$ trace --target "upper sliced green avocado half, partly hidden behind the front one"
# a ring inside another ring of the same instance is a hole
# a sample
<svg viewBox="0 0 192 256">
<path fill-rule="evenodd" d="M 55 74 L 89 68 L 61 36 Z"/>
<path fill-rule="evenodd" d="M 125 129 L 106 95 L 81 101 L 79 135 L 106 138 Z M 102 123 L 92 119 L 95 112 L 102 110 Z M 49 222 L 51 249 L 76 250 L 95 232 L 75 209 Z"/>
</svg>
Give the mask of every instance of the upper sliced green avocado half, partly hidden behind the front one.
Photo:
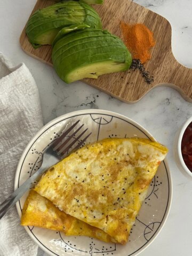
<svg viewBox="0 0 192 256">
<path fill-rule="evenodd" d="M 91 28 L 102 27 L 98 13 L 90 5 L 62 1 L 37 10 L 27 22 L 26 34 L 32 44 L 52 44 L 62 28 L 82 24 Z"/>
</svg>

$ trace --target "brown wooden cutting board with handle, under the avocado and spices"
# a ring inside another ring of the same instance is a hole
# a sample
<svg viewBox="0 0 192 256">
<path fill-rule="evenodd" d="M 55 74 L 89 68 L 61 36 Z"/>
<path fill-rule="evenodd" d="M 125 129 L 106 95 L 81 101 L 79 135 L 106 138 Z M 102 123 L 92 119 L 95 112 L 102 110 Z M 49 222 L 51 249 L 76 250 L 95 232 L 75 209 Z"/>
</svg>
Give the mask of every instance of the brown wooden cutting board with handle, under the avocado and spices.
<svg viewBox="0 0 192 256">
<path fill-rule="evenodd" d="M 173 56 L 170 23 L 131 0 L 105 0 L 104 2 L 103 5 L 93 5 L 101 17 L 103 29 L 108 29 L 122 40 L 123 35 L 119 28 L 121 21 L 143 23 L 154 32 L 156 45 L 151 49 L 151 60 L 145 65 L 150 74 L 154 75 L 154 82 L 148 85 L 138 70 L 103 75 L 98 79 L 84 79 L 83 82 L 127 103 L 137 102 L 151 89 L 160 85 L 173 87 L 181 93 L 183 98 L 192 102 L 192 69 L 182 66 Z M 31 14 L 37 9 L 54 3 L 49 0 L 38 0 Z M 20 44 L 31 57 L 52 66 L 51 46 L 46 45 L 35 50 L 28 41 L 25 28 L 20 37 Z"/>
</svg>

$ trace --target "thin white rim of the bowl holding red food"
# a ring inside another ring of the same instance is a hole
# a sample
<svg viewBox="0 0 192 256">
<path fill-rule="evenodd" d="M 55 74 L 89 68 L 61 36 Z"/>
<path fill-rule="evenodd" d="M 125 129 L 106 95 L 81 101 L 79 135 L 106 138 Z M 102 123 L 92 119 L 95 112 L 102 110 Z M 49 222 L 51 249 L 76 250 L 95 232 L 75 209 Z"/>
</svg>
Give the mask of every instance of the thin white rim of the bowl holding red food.
<svg viewBox="0 0 192 256">
<path fill-rule="evenodd" d="M 185 170 L 190 175 L 190 177 L 192 178 L 192 172 L 188 169 L 185 161 L 183 160 L 183 156 L 182 156 L 182 153 L 181 153 L 181 141 L 182 141 L 182 138 L 183 138 L 183 134 L 186 131 L 188 125 L 191 122 L 192 122 L 192 116 L 189 117 L 187 119 L 187 121 L 182 125 L 181 130 L 179 132 L 179 136 L 178 136 L 177 150 L 178 150 L 178 155 L 179 155 L 180 163 L 181 163 L 181 166 L 182 166 L 183 170 Z"/>
</svg>

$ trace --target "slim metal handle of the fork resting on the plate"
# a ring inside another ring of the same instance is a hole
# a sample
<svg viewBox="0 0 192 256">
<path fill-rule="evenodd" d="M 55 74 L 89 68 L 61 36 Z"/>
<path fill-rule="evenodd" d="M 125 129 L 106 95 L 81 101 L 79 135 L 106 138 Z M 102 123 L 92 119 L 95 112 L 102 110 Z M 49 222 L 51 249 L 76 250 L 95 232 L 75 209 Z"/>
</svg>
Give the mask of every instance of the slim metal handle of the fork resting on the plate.
<svg viewBox="0 0 192 256">
<path fill-rule="evenodd" d="M 5 199 L 0 205 L 0 220 L 9 211 L 9 209 L 17 203 L 17 201 L 26 193 L 29 188 L 34 187 L 34 181 L 42 174 L 46 169 L 40 168 L 38 172 L 34 173 L 29 179 L 27 179 L 22 185 L 16 189 L 9 197 Z"/>
</svg>

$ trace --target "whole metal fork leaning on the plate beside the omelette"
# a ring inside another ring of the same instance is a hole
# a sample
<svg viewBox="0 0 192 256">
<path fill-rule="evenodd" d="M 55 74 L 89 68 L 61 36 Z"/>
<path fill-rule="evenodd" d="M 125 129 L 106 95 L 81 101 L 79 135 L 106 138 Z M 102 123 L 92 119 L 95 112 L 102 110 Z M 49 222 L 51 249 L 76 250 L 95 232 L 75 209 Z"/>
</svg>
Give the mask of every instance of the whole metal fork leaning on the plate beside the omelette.
<svg viewBox="0 0 192 256">
<path fill-rule="evenodd" d="M 5 199 L 5 201 L 0 205 L 0 219 L 6 214 L 7 211 L 9 211 L 9 209 L 13 205 L 15 205 L 15 203 L 22 197 L 23 194 L 26 193 L 26 191 L 29 188 L 33 188 L 35 186 L 36 181 L 47 170 L 47 168 L 58 163 L 61 159 L 63 159 L 63 155 L 68 153 L 69 149 L 72 146 L 74 146 L 80 138 L 82 138 L 83 134 L 88 129 L 85 129 L 76 138 L 74 138 L 74 136 L 75 134 L 77 134 L 78 131 L 82 129 L 84 124 L 78 127 L 77 130 L 75 130 L 71 135 L 67 137 L 69 132 L 72 131 L 78 123 L 79 120 L 75 124 L 70 126 L 69 129 L 63 132 L 63 134 L 57 140 L 55 140 L 52 144 L 47 146 L 43 154 L 43 163 L 41 168 L 38 171 L 36 171 L 29 179 L 27 179 L 18 189 L 16 189 L 13 192 L 13 194 L 11 194 L 7 199 Z M 79 143 L 75 146 L 73 150 L 76 150 L 77 148 L 81 147 L 90 135 L 91 133 L 86 135 L 84 139 L 81 139 L 81 141 L 79 141 Z M 71 141 L 72 138 L 74 139 L 73 141 Z"/>
</svg>

